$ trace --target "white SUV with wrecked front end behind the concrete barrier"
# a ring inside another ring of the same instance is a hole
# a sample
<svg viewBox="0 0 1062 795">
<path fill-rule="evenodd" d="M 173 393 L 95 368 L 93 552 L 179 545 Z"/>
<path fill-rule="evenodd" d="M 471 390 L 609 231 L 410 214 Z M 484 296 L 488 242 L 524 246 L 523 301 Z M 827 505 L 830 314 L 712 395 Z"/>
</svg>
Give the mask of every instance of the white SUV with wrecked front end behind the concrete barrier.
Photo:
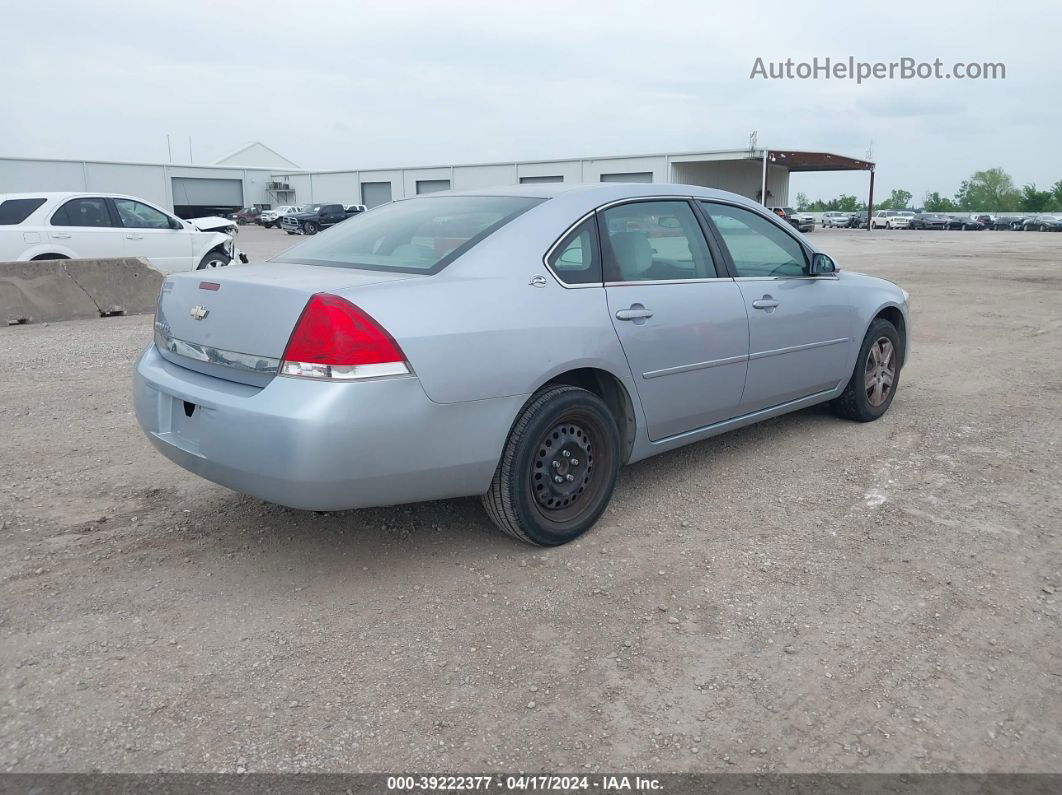
<svg viewBox="0 0 1062 795">
<path fill-rule="evenodd" d="M 0 194 L 0 260 L 143 257 L 164 274 L 247 258 L 223 218 L 182 221 L 114 193 Z"/>
</svg>

